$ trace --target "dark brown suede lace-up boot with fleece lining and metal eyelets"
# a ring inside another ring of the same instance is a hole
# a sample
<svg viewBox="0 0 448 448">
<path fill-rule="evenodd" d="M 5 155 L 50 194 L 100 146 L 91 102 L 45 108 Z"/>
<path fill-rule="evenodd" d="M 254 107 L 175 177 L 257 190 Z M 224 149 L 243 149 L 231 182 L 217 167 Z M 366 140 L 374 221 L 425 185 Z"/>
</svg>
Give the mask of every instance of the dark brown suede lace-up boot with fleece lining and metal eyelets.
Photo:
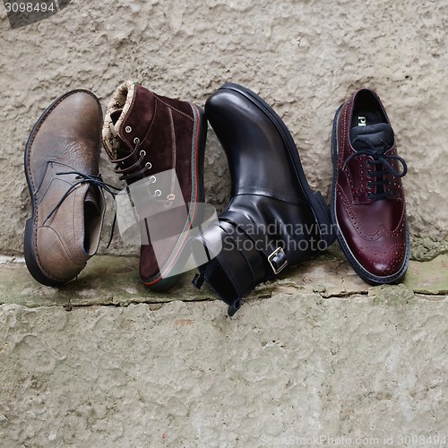
<svg viewBox="0 0 448 448">
<path fill-rule="evenodd" d="M 138 223 L 140 276 L 151 289 L 168 289 L 177 278 L 173 272 L 185 264 L 186 233 L 199 219 L 195 204 L 204 200 L 206 135 L 201 108 L 134 82 L 122 83 L 108 104 L 102 137 L 116 173 L 127 185 L 143 182 L 148 209 L 150 202 L 167 207 L 159 213 L 149 211 Z M 172 185 L 159 186 L 161 173 L 172 173 Z M 180 187 L 177 193 L 175 183 Z M 183 207 L 169 208 L 179 200 Z"/>
</svg>

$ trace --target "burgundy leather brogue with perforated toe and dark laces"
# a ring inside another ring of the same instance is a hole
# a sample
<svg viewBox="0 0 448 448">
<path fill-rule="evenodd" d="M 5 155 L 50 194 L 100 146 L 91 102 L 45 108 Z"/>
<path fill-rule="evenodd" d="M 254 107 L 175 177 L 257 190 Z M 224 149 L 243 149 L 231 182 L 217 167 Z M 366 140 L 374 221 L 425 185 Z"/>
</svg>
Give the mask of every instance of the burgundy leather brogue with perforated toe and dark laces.
<svg viewBox="0 0 448 448">
<path fill-rule="evenodd" d="M 356 91 L 333 124 L 332 220 L 340 246 L 368 283 L 393 283 L 409 264 L 409 228 L 392 126 L 373 90 Z"/>
</svg>

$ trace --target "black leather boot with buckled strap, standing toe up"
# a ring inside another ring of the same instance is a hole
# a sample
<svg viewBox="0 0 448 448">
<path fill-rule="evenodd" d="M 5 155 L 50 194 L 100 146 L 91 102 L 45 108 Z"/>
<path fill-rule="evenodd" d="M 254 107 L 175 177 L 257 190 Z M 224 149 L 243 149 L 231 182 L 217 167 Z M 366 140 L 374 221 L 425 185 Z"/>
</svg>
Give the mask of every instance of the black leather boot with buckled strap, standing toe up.
<svg viewBox="0 0 448 448">
<path fill-rule="evenodd" d="M 329 210 L 314 193 L 288 128 L 252 90 L 226 83 L 205 114 L 228 158 L 231 200 L 219 223 L 192 241 L 193 254 L 210 261 L 193 280 L 206 280 L 233 315 L 242 297 L 286 266 L 334 241 Z"/>
</svg>

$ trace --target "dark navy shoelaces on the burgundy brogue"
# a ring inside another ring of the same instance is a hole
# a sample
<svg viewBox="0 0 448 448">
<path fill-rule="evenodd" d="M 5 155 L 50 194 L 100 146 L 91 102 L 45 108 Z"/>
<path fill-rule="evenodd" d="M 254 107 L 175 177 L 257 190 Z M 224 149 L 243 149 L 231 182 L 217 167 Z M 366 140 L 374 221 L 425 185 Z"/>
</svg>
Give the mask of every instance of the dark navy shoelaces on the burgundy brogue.
<svg viewBox="0 0 448 448">
<path fill-rule="evenodd" d="M 380 201 L 382 199 L 387 198 L 392 194 L 391 188 L 388 188 L 388 185 L 391 184 L 391 179 L 384 179 L 384 175 L 389 173 L 393 177 L 405 176 L 406 173 L 408 172 L 408 166 L 406 165 L 406 161 L 400 156 L 393 154 L 385 154 L 385 152 L 389 150 L 389 146 L 383 140 L 381 141 L 383 143 L 382 149 L 376 148 L 375 145 L 372 142 L 370 142 L 370 140 L 367 137 L 362 136 L 357 137 L 353 140 L 352 143 L 355 143 L 357 141 L 366 142 L 368 148 L 361 149 L 350 154 L 349 157 L 345 160 L 342 169 L 345 169 L 349 164 L 349 161 L 355 157 L 358 156 L 371 157 L 372 159 L 367 159 L 366 163 L 368 167 L 374 165 L 375 171 L 369 169 L 367 171 L 367 177 L 375 178 L 375 180 L 369 180 L 367 182 L 367 187 L 369 189 L 376 187 L 376 193 L 368 192 L 367 197 L 369 199 L 374 199 L 375 201 Z M 392 166 L 393 160 L 398 160 L 401 163 L 401 167 L 403 168 L 401 172 L 393 168 Z"/>
</svg>

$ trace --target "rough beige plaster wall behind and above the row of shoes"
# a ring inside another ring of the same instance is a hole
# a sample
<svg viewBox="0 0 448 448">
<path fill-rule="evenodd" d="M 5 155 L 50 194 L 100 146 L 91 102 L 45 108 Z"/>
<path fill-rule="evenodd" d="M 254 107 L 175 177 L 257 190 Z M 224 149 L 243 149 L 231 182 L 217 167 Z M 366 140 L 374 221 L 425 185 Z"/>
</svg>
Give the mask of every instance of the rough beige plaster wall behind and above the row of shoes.
<svg viewBox="0 0 448 448">
<path fill-rule="evenodd" d="M 327 195 L 333 114 L 358 87 L 377 90 L 409 165 L 413 256 L 441 252 L 447 17 L 447 0 L 73 0 L 44 21 L 10 30 L 0 6 L 0 253 L 22 251 L 30 216 L 23 150 L 41 112 L 79 87 L 105 108 L 126 79 L 199 105 L 223 82 L 259 92 L 289 126 L 310 183 Z M 228 171 L 212 133 L 206 163 L 208 199 L 222 208 Z M 117 182 L 105 154 L 101 171 Z M 134 252 L 116 238 L 109 253 Z"/>
</svg>

